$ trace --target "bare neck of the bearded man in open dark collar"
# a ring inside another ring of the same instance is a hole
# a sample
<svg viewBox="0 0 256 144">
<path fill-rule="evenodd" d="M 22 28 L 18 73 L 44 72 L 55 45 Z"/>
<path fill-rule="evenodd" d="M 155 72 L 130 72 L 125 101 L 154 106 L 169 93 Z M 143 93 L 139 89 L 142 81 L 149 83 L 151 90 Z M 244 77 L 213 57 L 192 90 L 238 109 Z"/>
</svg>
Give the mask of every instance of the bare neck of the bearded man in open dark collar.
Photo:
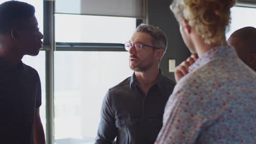
<svg viewBox="0 0 256 144">
<path fill-rule="evenodd" d="M 158 80 L 158 74 L 159 68 L 149 69 L 143 72 L 135 71 L 136 80 L 145 94 L 148 93 L 148 89 Z"/>
</svg>

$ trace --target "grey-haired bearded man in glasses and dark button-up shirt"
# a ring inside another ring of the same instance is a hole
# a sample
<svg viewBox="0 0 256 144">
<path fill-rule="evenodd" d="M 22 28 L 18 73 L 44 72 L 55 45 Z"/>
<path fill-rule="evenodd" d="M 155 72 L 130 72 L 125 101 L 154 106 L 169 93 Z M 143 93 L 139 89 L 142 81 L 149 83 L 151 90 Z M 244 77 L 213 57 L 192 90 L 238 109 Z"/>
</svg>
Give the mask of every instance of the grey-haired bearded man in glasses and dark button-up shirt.
<svg viewBox="0 0 256 144">
<path fill-rule="evenodd" d="M 103 100 L 96 143 L 154 143 L 175 82 L 164 76 L 159 62 L 167 39 L 161 29 L 141 24 L 125 49 L 135 72 L 110 88 Z"/>
</svg>

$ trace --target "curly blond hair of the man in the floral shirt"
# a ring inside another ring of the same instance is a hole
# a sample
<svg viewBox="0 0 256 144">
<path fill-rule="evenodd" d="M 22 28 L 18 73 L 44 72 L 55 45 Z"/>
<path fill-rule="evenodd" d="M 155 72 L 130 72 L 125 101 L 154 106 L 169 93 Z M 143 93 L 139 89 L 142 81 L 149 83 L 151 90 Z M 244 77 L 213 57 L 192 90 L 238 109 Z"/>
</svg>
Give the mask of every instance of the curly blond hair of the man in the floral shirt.
<svg viewBox="0 0 256 144">
<path fill-rule="evenodd" d="M 225 44 L 230 8 L 235 0 L 173 0 L 170 5 L 176 19 L 188 21 L 206 44 Z"/>
</svg>

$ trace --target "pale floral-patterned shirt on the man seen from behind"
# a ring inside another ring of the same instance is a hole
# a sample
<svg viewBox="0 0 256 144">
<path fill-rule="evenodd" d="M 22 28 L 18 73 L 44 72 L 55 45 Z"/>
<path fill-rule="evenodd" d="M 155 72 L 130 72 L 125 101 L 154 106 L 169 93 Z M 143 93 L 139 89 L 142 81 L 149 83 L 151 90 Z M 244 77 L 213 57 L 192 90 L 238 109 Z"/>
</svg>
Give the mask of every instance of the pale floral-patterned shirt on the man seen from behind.
<svg viewBox="0 0 256 144">
<path fill-rule="evenodd" d="M 211 49 L 174 88 L 155 144 L 255 144 L 255 101 L 256 73 L 234 47 Z"/>
</svg>

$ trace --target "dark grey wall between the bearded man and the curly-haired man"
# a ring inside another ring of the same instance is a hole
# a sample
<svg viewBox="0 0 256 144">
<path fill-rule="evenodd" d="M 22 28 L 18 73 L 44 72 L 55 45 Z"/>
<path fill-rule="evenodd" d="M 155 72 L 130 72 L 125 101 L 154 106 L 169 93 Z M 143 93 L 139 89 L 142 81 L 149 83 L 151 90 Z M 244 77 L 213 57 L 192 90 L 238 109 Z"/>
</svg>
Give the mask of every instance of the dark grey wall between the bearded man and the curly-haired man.
<svg viewBox="0 0 256 144">
<path fill-rule="evenodd" d="M 166 76 L 174 80 L 173 73 L 168 72 L 168 59 L 176 59 L 178 65 L 190 56 L 190 52 L 183 43 L 178 23 L 169 8 L 170 4 L 170 0 L 148 0 L 148 14 L 149 25 L 159 27 L 167 36 L 168 47 L 160 68 Z"/>
</svg>

